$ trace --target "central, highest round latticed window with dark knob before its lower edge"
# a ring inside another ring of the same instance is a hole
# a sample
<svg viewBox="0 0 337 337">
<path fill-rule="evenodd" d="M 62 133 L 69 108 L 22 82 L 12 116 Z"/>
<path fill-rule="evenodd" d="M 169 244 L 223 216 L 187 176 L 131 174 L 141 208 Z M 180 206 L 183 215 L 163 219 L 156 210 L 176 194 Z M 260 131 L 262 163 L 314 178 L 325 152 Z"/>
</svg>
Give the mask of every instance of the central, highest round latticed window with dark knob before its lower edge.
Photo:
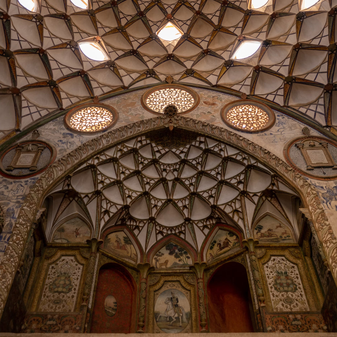
<svg viewBox="0 0 337 337">
<path fill-rule="evenodd" d="M 198 94 L 181 85 L 168 84 L 148 90 L 142 96 L 143 108 L 156 115 L 162 115 L 167 105 L 175 105 L 178 114 L 186 114 L 199 104 Z"/>
</svg>

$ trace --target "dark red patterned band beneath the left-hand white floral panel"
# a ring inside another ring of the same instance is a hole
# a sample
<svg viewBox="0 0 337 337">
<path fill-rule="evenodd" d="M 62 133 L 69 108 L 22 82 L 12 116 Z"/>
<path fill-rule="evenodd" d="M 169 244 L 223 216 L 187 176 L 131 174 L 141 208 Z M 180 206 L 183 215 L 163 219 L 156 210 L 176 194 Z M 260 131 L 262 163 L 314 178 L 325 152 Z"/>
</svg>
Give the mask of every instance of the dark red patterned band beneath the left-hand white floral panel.
<svg viewBox="0 0 337 337">
<path fill-rule="evenodd" d="M 80 332 L 81 314 L 36 314 L 26 315 L 21 333 L 76 333 Z"/>
</svg>

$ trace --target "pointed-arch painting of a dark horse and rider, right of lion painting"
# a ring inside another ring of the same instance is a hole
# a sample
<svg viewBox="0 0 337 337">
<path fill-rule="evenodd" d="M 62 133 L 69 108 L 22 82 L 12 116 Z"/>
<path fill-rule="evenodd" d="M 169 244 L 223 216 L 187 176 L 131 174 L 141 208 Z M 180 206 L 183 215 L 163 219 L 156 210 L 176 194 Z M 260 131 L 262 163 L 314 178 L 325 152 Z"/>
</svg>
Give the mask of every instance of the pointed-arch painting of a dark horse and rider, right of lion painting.
<svg viewBox="0 0 337 337">
<path fill-rule="evenodd" d="M 229 251 L 240 249 L 239 237 L 230 231 L 219 229 L 207 249 L 207 262 L 227 255 Z"/>
</svg>

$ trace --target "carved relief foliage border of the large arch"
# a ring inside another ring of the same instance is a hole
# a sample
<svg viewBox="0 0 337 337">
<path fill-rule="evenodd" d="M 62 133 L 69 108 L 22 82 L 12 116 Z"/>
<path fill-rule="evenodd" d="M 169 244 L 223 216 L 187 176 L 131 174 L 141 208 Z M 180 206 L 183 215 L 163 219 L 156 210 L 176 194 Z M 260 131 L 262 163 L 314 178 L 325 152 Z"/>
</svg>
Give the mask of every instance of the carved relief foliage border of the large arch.
<svg viewBox="0 0 337 337">
<path fill-rule="evenodd" d="M 337 239 L 333 234 L 315 188 L 309 182 L 276 155 L 233 131 L 183 116 L 176 116 L 171 119 L 166 116 L 158 116 L 122 126 L 89 140 L 54 162 L 41 175 L 21 206 L 17 221 L 13 226 L 10 241 L 0 262 L 0 314 L 2 314 L 10 286 L 18 268 L 19 259 L 23 252 L 31 223 L 44 197 L 51 188 L 60 179 L 69 174 L 74 167 L 79 166 L 88 157 L 111 147 L 114 143 L 119 143 L 129 137 L 141 135 L 149 130 L 168 127 L 169 125 L 199 132 L 235 146 L 241 151 L 257 158 L 293 186 L 311 213 L 317 234 L 320 241 L 323 242 L 323 248 L 326 251 L 331 270 L 335 279 L 337 278 L 337 259 L 333 258 L 333 255 L 337 254 Z M 3 274 L 5 276 L 1 277 Z"/>
</svg>

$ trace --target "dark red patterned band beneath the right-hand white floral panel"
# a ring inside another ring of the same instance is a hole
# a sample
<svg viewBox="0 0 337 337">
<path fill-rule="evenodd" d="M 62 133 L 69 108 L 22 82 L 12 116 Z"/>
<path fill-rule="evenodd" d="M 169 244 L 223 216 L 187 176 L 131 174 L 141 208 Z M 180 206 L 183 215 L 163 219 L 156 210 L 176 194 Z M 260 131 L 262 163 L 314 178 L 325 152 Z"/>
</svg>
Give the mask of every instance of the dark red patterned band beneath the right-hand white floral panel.
<svg viewBox="0 0 337 337">
<path fill-rule="evenodd" d="M 310 314 L 265 314 L 267 332 L 327 332 L 323 317 Z"/>
</svg>

